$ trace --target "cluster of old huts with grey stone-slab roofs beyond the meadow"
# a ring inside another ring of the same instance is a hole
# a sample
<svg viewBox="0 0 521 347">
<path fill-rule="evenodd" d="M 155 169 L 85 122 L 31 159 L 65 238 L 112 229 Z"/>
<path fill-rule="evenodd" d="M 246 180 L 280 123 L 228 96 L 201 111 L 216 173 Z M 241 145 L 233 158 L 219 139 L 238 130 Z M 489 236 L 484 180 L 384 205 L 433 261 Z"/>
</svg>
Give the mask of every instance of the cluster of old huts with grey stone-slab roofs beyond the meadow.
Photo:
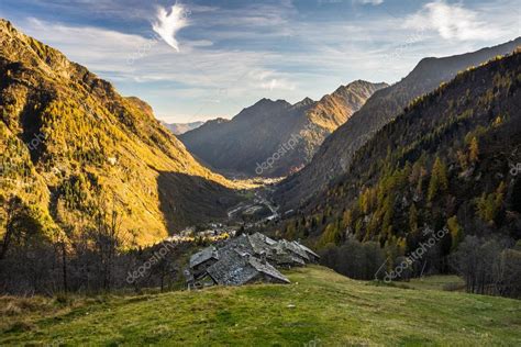
<svg viewBox="0 0 521 347">
<path fill-rule="evenodd" d="M 255 233 L 221 240 L 193 254 L 185 276 L 189 289 L 252 282 L 289 283 L 277 268 L 304 266 L 319 258 L 300 243 L 276 242 Z"/>
</svg>

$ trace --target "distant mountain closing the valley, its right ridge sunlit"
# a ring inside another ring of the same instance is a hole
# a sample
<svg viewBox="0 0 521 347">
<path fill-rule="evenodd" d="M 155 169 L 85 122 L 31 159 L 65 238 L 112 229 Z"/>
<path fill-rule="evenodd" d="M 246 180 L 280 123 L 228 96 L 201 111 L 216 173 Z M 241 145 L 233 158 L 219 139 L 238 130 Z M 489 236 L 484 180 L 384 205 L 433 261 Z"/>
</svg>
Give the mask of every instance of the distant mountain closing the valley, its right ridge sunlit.
<svg viewBox="0 0 521 347">
<path fill-rule="evenodd" d="M 280 177 L 299 170 L 323 139 L 385 83 L 355 81 L 320 101 L 290 104 L 263 99 L 231 121 L 207 122 L 179 138 L 210 167 L 246 176 Z"/>
</svg>

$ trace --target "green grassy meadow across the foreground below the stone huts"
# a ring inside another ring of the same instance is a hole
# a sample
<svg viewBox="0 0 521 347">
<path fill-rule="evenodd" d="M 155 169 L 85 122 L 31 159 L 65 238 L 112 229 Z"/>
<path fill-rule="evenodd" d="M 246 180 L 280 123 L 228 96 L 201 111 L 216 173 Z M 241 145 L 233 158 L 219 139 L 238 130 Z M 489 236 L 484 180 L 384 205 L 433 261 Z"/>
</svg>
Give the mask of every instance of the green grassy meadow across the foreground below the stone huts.
<svg viewBox="0 0 521 347">
<path fill-rule="evenodd" d="M 521 345 L 521 301 L 367 286 L 314 266 L 287 275 L 292 284 L 11 309 L 0 345 Z"/>
</svg>

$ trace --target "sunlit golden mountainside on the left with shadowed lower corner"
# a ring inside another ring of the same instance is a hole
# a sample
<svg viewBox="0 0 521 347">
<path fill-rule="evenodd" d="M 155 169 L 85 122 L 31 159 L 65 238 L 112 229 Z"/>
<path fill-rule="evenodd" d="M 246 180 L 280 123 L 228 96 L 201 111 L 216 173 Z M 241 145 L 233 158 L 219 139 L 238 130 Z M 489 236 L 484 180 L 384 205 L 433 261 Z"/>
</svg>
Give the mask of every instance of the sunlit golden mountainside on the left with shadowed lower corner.
<svg viewBox="0 0 521 347">
<path fill-rule="evenodd" d="M 199 165 L 144 101 L 8 21 L 0 34 L 2 226 L 71 237 L 115 212 L 149 244 L 237 202 L 235 183 Z"/>
</svg>

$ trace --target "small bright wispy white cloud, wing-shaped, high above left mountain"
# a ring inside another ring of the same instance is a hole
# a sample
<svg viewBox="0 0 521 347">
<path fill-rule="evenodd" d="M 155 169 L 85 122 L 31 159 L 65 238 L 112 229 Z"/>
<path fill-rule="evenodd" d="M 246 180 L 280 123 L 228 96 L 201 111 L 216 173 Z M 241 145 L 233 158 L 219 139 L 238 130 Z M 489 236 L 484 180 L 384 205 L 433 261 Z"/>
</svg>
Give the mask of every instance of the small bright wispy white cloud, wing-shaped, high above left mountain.
<svg viewBox="0 0 521 347">
<path fill-rule="evenodd" d="M 152 25 L 152 29 L 177 52 L 179 52 L 179 43 L 176 40 L 176 34 L 188 25 L 188 13 L 189 11 L 179 3 L 174 4 L 170 12 L 159 7 L 156 16 L 157 22 Z"/>
</svg>

